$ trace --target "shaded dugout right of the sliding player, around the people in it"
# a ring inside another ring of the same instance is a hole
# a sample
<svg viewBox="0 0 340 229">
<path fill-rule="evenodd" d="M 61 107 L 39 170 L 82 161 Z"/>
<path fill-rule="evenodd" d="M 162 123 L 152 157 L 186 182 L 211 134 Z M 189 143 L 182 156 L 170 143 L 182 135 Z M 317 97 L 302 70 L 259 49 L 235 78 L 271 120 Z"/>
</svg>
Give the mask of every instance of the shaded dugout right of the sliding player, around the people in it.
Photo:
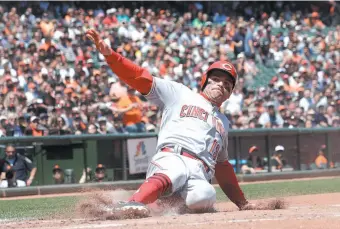
<svg viewBox="0 0 340 229">
<path fill-rule="evenodd" d="M 286 158 L 291 159 L 294 170 L 311 163 L 321 145 L 326 145 L 327 167 L 330 162 L 340 162 L 340 128 L 295 128 L 295 129 L 248 129 L 232 130 L 229 139 L 229 155 L 236 159 L 236 171 L 240 172 L 240 159 L 251 145 L 257 145 L 262 156 L 268 159 L 268 172 L 271 172 L 271 153 L 276 145 L 283 145 Z M 234 153 L 233 153 L 234 152 Z M 292 161 L 293 159 L 293 161 Z M 294 160 L 295 159 L 295 160 Z"/>
</svg>

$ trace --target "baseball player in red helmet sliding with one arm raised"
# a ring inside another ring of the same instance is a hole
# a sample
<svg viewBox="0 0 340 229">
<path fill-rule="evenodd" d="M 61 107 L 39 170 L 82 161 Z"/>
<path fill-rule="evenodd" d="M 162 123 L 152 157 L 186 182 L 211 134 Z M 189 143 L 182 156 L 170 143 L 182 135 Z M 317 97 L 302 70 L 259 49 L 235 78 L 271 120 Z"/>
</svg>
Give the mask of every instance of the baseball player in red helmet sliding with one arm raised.
<svg viewBox="0 0 340 229">
<path fill-rule="evenodd" d="M 88 30 L 86 36 L 120 80 L 163 111 L 157 153 L 145 182 L 128 202 L 112 211 L 147 217 L 148 204 L 171 195 L 180 196 L 190 210 L 211 209 L 216 201 L 215 189 L 209 183 L 213 176 L 240 210 L 250 209 L 253 205 L 246 200 L 228 162 L 229 121 L 219 112 L 235 87 L 235 67 L 228 61 L 213 63 L 202 76 L 198 94 L 180 83 L 152 76 L 113 51 L 95 30 Z"/>
</svg>

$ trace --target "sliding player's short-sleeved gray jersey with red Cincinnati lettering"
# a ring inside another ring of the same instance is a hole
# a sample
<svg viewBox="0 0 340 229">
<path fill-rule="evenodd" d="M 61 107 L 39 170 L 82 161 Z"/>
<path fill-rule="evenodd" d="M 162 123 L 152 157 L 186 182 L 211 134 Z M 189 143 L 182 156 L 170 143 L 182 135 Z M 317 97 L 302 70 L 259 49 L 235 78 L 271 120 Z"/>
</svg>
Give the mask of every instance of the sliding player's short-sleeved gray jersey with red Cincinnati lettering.
<svg viewBox="0 0 340 229">
<path fill-rule="evenodd" d="M 229 121 L 202 95 L 183 84 L 154 77 L 145 97 L 163 110 L 157 152 L 177 144 L 195 153 L 212 171 L 216 162 L 228 159 Z"/>
</svg>

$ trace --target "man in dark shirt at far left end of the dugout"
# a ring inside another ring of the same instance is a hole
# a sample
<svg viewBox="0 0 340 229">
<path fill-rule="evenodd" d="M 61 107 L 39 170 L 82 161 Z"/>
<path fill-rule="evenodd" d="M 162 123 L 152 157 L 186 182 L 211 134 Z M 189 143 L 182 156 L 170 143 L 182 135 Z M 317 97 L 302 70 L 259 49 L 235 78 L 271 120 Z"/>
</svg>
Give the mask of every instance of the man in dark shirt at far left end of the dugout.
<svg viewBox="0 0 340 229">
<path fill-rule="evenodd" d="M 15 147 L 11 144 L 6 146 L 5 153 L 5 165 L 3 165 L 1 178 L 5 179 L 7 171 L 11 170 L 15 173 L 16 180 L 21 180 L 26 186 L 30 186 L 37 172 L 34 163 L 29 158 L 16 153 Z"/>
</svg>

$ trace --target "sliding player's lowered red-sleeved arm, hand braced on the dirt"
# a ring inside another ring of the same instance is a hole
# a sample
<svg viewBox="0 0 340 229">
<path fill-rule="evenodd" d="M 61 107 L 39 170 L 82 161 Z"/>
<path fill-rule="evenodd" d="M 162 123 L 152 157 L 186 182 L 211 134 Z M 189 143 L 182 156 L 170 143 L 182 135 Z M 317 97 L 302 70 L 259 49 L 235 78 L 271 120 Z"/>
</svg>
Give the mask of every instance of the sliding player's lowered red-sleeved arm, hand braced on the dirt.
<svg viewBox="0 0 340 229">
<path fill-rule="evenodd" d="M 240 210 L 248 210 L 250 205 L 238 184 L 233 166 L 229 161 L 218 162 L 215 177 L 223 192 Z"/>
</svg>

